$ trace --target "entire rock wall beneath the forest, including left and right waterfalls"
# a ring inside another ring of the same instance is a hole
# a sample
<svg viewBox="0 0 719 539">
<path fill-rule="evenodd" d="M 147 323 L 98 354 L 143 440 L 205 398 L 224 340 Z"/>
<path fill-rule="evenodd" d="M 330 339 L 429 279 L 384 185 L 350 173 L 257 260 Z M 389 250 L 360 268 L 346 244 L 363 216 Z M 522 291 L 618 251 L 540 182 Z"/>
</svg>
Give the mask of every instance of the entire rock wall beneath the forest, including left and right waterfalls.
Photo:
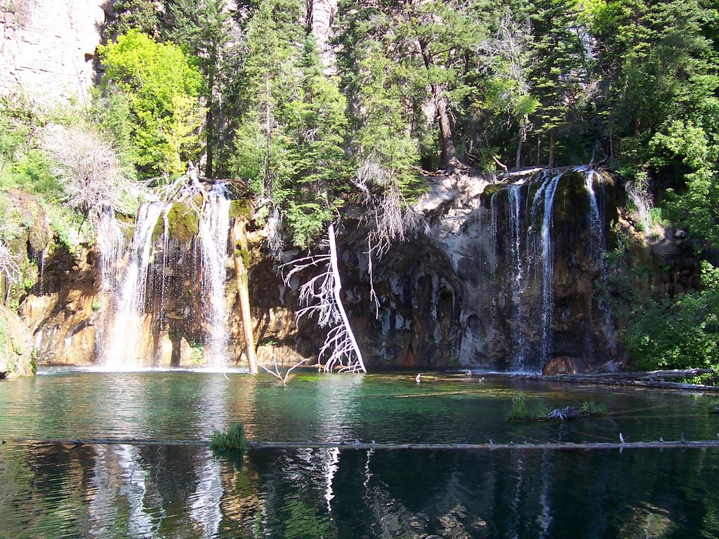
<svg viewBox="0 0 719 539">
<path fill-rule="evenodd" d="M 609 175 L 536 170 L 490 184 L 465 171 L 429 181 L 432 190 L 417 205 L 426 229 L 373 261 L 376 302 L 367 230 L 349 216 L 339 231 L 344 306 L 370 369 L 541 372 L 557 356 L 600 364 L 618 354 L 605 298 L 603 252 L 612 247 L 616 219 Z M 33 289 L 21 308 L 41 361 L 217 366 L 214 336 L 226 365 L 245 364 L 229 225 L 203 239 L 196 213 L 154 204 L 134 226 L 112 217 L 93 249 L 47 258 L 42 290 Z M 313 362 L 326 329 L 295 318 L 298 287 L 309 275 L 283 282 L 281 263 L 262 250 L 262 230 L 249 226 L 249 235 L 260 361 Z M 224 263 L 203 254 L 203 241 L 216 242 Z M 206 286 L 210 270 L 219 285 Z M 217 321 L 213 310 L 226 318 Z"/>
</svg>

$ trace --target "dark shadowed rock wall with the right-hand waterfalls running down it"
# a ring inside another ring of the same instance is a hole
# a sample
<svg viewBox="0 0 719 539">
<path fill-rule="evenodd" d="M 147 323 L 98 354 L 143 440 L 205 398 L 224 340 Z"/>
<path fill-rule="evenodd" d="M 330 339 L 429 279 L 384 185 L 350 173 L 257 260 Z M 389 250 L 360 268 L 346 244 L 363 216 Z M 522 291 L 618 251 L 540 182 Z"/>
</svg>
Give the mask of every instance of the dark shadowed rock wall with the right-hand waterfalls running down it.
<svg viewBox="0 0 719 539">
<path fill-rule="evenodd" d="M 430 180 L 417 206 L 428 231 L 376 264 L 378 310 L 366 300 L 366 255 L 355 245 L 345 257 L 370 364 L 541 372 L 554 356 L 599 362 L 618 353 L 604 295 L 616 218 L 608 174 Z"/>
</svg>

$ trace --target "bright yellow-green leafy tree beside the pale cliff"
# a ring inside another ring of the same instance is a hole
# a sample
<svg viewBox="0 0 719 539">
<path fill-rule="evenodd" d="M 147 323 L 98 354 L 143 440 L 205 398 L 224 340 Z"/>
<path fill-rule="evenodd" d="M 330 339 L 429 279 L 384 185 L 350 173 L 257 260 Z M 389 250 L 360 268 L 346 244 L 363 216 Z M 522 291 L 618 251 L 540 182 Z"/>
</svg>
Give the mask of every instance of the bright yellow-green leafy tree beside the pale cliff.
<svg viewBox="0 0 719 539">
<path fill-rule="evenodd" d="M 171 43 L 157 43 L 137 30 L 99 47 L 106 68 L 105 95 L 127 95 L 132 160 L 146 176 L 176 175 L 198 152 L 202 78 Z"/>
</svg>

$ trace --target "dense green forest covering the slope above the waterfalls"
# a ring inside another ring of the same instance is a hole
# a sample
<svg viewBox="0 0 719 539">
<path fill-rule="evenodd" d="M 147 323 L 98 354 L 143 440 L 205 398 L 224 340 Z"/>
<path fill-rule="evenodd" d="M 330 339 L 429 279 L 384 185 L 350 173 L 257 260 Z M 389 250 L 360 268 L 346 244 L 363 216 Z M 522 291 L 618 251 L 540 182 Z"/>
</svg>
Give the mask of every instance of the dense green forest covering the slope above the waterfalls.
<svg viewBox="0 0 719 539">
<path fill-rule="evenodd" d="M 283 239 L 313 244 L 348 201 L 374 205 L 371 224 L 385 239 L 402 236 L 392 223 L 411 222 L 423 170 L 467 165 L 491 176 L 592 163 L 615 172 L 629 206 L 705 245 L 719 240 L 714 2 L 339 0 L 326 35 L 313 31 L 319 4 L 116 1 L 91 106 L 40 113 L 4 98 L 2 187 L 87 214 L 132 208 L 142 185 L 199 163 L 208 178 L 249 185 L 276 250 Z M 79 200 L 67 172 L 86 157 L 61 155 L 49 124 L 115 152 L 103 166 L 132 180 L 123 189 L 133 194 Z M 63 213 L 68 220 L 83 218 Z M 8 282 L 18 275 L 6 247 L 17 226 L 0 227 Z M 705 279 L 701 293 L 712 295 L 710 268 Z M 653 303 L 650 314 L 691 311 L 687 323 L 701 328 L 689 333 L 715 348 L 714 295 L 696 299 Z M 637 354 L 656 354 L 646 342 L 628 339 Z"/>
</svg>

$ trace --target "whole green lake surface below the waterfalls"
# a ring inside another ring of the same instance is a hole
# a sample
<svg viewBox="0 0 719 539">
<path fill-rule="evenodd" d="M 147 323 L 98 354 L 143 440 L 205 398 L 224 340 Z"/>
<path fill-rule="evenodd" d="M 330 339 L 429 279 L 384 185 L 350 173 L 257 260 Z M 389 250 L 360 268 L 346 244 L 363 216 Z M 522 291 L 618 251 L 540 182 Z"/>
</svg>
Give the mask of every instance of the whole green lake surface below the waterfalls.
<svg viewBox="0 0 719 539">
<path fill-rule="evenodd" d="M 252 441 L 710 440 L 716 397 L 436 374 L 47 369 L 0 383 L 0 538 L 718 538 L 719 451 L 253 449 Z M 519 391 L 605 417 L 505 420 Z M 43 442 L 134 438 L 132 445 Z"/>
</svg>

